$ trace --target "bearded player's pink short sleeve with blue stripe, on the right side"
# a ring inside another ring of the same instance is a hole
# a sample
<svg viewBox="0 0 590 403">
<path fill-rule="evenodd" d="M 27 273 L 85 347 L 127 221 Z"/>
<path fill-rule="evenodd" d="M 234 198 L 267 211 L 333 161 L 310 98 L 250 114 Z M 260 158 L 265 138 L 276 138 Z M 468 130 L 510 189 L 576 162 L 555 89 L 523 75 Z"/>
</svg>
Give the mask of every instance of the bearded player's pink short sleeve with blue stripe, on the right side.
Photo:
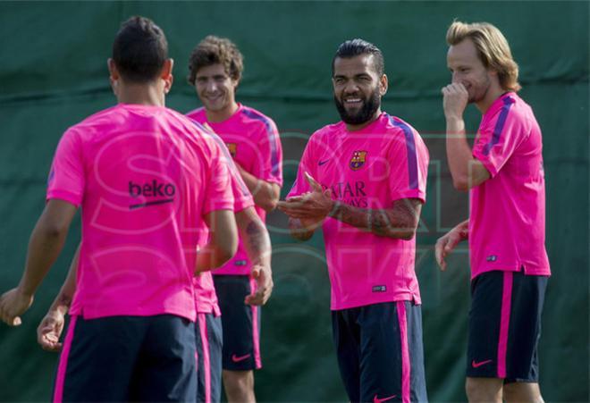
<svg viewBox="0 0 590 403">
<path fill-rule="evenodd" d="M 428 174 L 428 149 L 424 141 L 408 124 L 394 122 L 401 130 L 392 141 L 388 160 L 390 164 L 389 187 L 392 200 L 419 198 L 426 202 L 426 177 Z"/>
</svg>

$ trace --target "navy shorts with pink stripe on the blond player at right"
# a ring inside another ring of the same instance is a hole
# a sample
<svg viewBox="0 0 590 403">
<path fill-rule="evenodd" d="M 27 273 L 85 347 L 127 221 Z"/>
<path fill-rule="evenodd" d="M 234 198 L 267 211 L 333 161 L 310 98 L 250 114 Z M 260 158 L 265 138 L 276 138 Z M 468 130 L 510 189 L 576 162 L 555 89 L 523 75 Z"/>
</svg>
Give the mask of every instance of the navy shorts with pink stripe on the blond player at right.
<svg viewBox="0 0 590 403">
<path fill-rule="evenodd" d="M 493 271 L 471 281 L 467 376 L 538 382 L 547 277 Z"/>
</svg>

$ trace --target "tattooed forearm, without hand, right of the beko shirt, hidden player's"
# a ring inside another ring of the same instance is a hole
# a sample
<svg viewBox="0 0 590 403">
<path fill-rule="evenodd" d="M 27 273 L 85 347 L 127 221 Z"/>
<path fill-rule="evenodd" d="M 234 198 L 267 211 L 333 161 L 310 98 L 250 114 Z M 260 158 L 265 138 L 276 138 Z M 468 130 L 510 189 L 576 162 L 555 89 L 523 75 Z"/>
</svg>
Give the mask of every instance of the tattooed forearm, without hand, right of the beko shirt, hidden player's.
<svg viewBox="0 0 590 403">
<path fill-rule="evenodd" d="M 236 220 L 250 262 L 270 267 L 272 249 L 270 236 L 256 211 L 253 208 L 243 210 L 236 214 Z"/>
</svg>

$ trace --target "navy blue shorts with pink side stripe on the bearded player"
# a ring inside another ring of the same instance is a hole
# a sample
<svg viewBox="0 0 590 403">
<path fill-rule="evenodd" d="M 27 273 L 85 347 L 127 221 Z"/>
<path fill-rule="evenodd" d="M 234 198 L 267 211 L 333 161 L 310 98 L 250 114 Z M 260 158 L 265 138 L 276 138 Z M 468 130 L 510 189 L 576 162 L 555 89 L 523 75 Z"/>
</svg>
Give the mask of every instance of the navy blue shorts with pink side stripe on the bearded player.
<svg viewBox="0 0 590 403">
<path fill-rule="evenodd" d="M 333 339 L 351 402 L 426 402 L 422 312 L 409 301 L 332 312 Z"/>
</svg>

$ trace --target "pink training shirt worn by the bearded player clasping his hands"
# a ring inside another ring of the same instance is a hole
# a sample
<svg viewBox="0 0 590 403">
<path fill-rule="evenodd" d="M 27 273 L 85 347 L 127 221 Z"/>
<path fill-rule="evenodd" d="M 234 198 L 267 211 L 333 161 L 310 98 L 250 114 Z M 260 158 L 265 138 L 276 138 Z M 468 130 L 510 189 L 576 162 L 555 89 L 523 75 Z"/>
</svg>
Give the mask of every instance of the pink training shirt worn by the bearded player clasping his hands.
<svg viewBox="0 0 590 403">
<path fill-rule="evenodd" d="M 357 131 L 339 122 L 311 136 L 288 197 L 310 191 L 308 172 L 332 189 L 334 199 L 350 206 L 387 209 L 403 198 L 424 202 L 428 158 L 417 131 L 387 113 Z M 323 229 L 333 310 L 399 300 L 420 303 L 415 237 L 380 237 L 330 217 Z"/>
</svg>

